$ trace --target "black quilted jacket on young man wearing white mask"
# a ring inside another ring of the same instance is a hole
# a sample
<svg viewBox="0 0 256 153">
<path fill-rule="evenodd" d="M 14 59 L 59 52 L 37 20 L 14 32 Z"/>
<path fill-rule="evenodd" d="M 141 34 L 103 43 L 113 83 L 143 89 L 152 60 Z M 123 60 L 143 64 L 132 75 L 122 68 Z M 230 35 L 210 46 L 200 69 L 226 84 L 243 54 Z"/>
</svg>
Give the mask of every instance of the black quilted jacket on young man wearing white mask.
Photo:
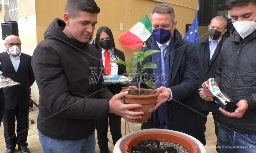
<svg viewBox="0 0 256 153">
<path fill-rule="evenodd" d="M 235 102 L 246 99 L 249 105 L 242 118 L 217 111 L 218 122 L 234 131 L 256 134 L 256 31 L 240 39 L 231 29 L 222 45 L 215 81 Z"/>
</svg>

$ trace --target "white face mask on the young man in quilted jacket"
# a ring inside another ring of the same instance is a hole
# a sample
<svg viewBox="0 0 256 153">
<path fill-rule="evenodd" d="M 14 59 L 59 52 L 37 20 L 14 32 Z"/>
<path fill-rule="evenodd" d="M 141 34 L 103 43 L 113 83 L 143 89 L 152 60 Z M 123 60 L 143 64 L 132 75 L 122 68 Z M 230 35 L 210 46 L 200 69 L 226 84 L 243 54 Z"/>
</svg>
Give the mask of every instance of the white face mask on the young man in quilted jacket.
<svg viewBox="0 0 256 153">
<path fill-rule="evenodd" d="M 233 23 L 234 28 L 243 39 L 256 30 L 255 19 L 256 17 L 252 21 L 236 21 Z"/>
</svg>

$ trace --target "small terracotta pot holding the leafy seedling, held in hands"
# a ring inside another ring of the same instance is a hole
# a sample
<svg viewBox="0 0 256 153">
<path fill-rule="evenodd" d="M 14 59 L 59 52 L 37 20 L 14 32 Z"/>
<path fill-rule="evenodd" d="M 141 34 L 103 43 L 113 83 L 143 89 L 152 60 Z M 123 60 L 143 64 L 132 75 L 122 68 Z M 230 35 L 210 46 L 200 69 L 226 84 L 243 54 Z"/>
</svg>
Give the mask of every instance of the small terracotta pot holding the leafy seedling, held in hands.
<svg viewBox="0 0 256 153">
<path fill-rule="evenodd" d="M 129 89 L 129 90 L 138 90 L 138 89 Z M 150 94 L 150 95 L 130 95 L 127 94 L 123 97 L 123 102 L 125 104 L 141 104 L 142 107 L 140 108 L 133 108 L 132 111 L 143 111 L 144 114 L 141 115 L 142 118 L 138 119 L 138 121 L 145 121 L 148 120 L 153 113 L 155 104 L 156 104 L 156 98 L 160 94 L 158 91 L 153 89 L 141 89 L 141 90 L 149 90 L 149 91 L 155 91 L 156 93 Z"/>
</svg>

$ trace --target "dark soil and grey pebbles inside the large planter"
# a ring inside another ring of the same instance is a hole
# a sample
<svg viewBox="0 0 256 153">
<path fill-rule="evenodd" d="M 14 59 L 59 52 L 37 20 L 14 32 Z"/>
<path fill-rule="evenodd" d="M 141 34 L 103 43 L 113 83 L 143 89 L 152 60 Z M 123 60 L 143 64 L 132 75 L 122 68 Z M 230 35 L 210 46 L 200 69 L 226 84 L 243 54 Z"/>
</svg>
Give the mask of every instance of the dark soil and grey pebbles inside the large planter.
<svg viewBox="0 0 256 153">
<path fill-rule="evenodd" d="M 126 150 L 127 151 L 127 150 Z M 129 152 L 129 151 L 127 151 Z M 140 141 L 133 146 L 131 153 L 189 153 L 186 148 L 179 144 L 171 142 L 162 142 L 158 140 Z"/>
</svg>

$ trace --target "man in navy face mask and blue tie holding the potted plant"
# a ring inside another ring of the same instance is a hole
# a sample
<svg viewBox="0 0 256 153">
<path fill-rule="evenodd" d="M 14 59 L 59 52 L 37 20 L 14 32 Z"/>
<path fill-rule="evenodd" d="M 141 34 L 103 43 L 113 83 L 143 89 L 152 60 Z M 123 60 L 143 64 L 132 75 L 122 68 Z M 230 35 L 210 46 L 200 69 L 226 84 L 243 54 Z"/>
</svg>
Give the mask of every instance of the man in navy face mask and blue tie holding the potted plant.
<svg viewBox="0 0 256 153">
<path fill-rule="evenodd" d="M 152 37 L 141 51 L 160 50 L 148 56 L 143 64 L 153 62 L 157 69 L 146 69 L 160 91 L 158 101 L 142 129 L 162 128 L 189 134 L 206 144 L 200 114 L 196 112 L 199 80 L 199 58 L 194 44 L 183 40 L 176 29 L 175 13 L 169 5 L 158 5 L 151 12 Z M 137 65 L 140 70 L 140 65 Z M 137 85 L 133 83 L 132 85 Z M 149 88 L 145 83 L 142 88 Z M 130 87 L 131 88 L 131 87 Z M 157 109 L 156 109 L 157 108 Z"/>
</svg>

